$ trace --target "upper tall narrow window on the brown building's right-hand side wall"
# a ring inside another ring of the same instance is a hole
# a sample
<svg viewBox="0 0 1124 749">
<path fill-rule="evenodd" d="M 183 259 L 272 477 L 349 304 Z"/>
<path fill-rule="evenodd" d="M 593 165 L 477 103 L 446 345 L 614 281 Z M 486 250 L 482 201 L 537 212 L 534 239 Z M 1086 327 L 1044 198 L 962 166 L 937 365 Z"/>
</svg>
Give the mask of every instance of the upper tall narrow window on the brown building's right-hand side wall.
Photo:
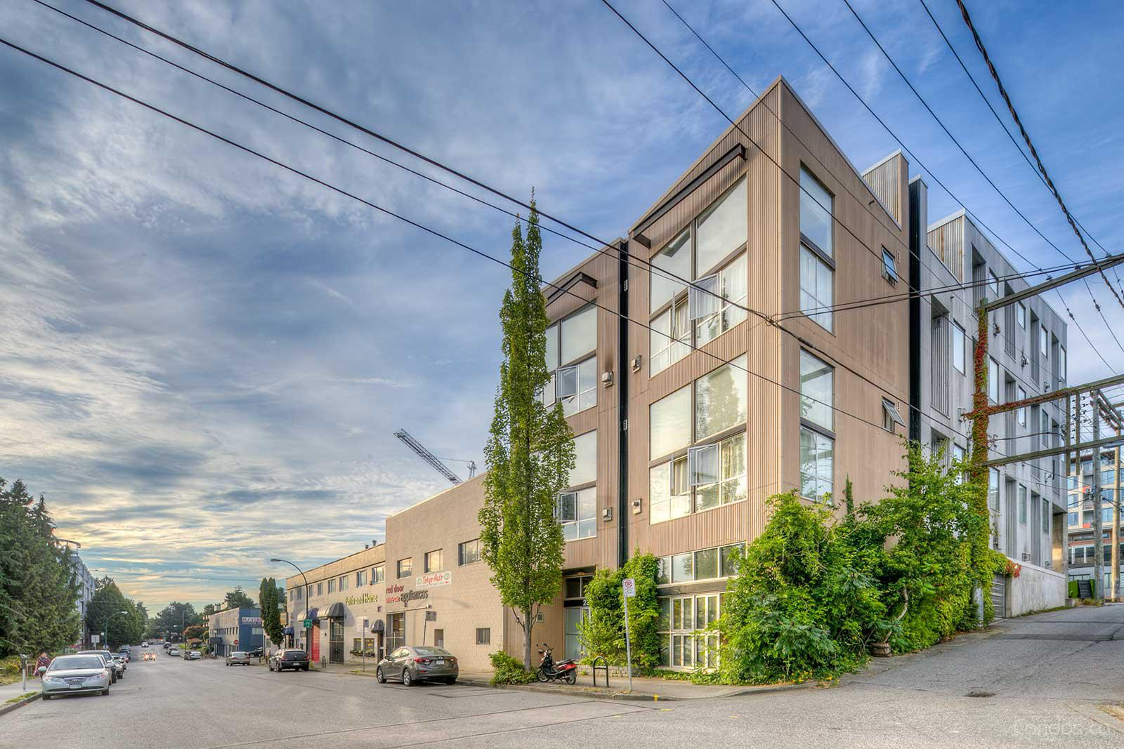
<svg viewBox="0 0 1124 749">
<path fill-rule="evenodd" d="M 832 329 L 834 247 L 832 194 L 806 168 L 800 168 L 800 309 Z"/>
</svg>

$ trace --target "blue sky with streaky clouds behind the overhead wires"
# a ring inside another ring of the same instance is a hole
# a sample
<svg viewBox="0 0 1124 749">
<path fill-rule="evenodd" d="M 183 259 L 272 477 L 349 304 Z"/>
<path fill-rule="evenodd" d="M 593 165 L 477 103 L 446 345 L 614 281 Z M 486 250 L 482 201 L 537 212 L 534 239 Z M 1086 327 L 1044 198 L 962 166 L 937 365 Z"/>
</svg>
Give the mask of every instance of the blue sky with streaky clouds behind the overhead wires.
<svg viewBox="0 0 1124 749">
<path fill-rule="evenodd" d="M 93 6 L 49 1 L 450 179 Z M 785 75 L 859 168 L 899 147 L 772 0 L 669 1 L 755 91 Z M 1035 265 L 1066 262 L 971 166 L 842 0 L 778 1 L 915 155 L 931 219 L 961 204 L 933 174 Z M 1009 127 L 954 2 L 926 2 Z M 544 210 L 606 239 L 626 234 L 726 125 L 595 0 L 116 4 L 509 194 L 534 189 Z M 752 101 L 662 2 L 614 4 L 727 115 Z M 996 185 L 1080 257 L 921 2 L 853 4 Z M 1120 248 L 1124 8 L 969 9 L 1071 211 Z M 3 3 L 0 29 L 460 241 L 509 249 L 509 216 L 33 0 Z M 218 601 L 236 584 L 256 596 L 263 576 L 288 574 L 271 557 L 307 568 L 350 554 L 382 540 L 388 514 L 447 486 L 397 429 L 437 456 L 482 465 L 506 268 L 8 47 L 0 81 L 0 476 L 46 495 L 57 535 L 82 544 L 96 575 L 114 576 L 151 612 Z M 543 274 L 589 253 L 546 235 Z M 1124 366 L 1093 300 L 1111 326 L 1124 309 L 1099 278 L 1089 283 L 1091 294 L 1062 292 L 1093 344 L 1070 326 L 1070 382 Z M 464 463 L 448 465 L 465 475 Z"/>
</svg>

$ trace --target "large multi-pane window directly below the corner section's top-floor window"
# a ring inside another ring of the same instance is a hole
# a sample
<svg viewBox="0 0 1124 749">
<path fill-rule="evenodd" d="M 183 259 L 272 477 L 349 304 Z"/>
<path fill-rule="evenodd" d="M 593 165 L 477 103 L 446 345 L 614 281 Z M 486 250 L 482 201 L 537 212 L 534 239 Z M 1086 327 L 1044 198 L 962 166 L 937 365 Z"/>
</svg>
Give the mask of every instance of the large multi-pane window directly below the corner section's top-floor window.
<svg viewBox="0 0 1124 749">
<path fill-rule="evenodd" d="M 650 407 L 650 522 L 746 496 L 745 356 Z M 731 433 L 733 432 L 733 433 Z"/>
</svg>

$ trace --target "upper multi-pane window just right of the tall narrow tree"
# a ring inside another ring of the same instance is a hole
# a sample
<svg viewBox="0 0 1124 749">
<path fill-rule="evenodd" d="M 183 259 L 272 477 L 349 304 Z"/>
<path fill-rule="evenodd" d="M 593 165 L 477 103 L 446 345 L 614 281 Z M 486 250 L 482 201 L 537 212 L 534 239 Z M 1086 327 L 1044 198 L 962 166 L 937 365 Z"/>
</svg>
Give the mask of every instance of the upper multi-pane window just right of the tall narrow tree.
<svg viewBox="0 0 1124 749">
<path fill-rule="evenodd" d="M 562 401 L 562 412 L 572 415 L 597 405 L 597 308 L 578 310 L 546 328 L 546 368 L 550 382 L 543 402 Z"/>
</svg>

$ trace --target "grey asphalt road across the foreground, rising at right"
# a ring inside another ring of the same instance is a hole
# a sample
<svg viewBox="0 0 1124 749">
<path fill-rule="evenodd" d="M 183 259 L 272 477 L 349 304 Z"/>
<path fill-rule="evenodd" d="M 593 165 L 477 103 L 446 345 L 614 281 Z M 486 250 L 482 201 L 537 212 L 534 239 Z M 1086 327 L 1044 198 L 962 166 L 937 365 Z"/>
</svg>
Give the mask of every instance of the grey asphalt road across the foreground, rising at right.
<svg viewBox="0 0 1124 749">
<path fill-rule="evenodd" d="M 1115 639 L 1122 638 L 1122 639 Z M 0 747 L 1124 746 L 1124 605 L 1001 622 L 832 688 L 668 703 L 134 660 L 106 697 L 0 716 Z M 969 696 L 973 695 L 973 696 Z"/>
</svg>

